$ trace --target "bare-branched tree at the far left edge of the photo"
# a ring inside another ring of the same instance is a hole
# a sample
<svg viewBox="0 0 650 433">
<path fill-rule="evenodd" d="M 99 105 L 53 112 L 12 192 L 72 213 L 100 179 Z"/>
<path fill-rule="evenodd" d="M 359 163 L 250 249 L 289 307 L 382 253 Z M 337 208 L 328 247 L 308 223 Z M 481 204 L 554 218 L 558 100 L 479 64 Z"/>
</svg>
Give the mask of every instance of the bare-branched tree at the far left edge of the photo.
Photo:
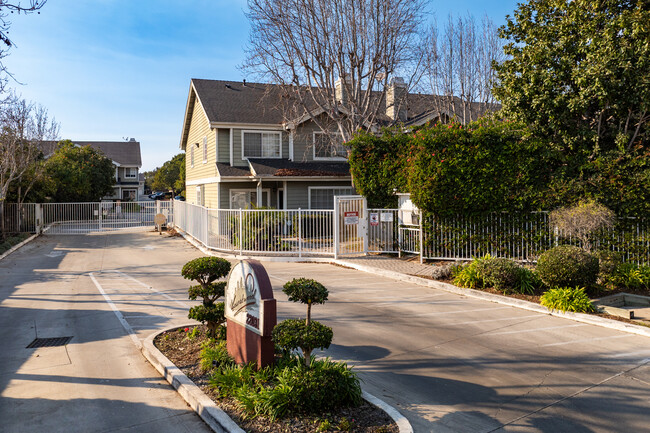
<svg viewBox="0 0 650 433">
<path fill-rule="evenodd" d="M 38 163 L 41 155 L 39 143 L 43 140 L 55 140 L 58 137 L 59 124 L 49 119 L 47 110 L 15 95 L 2 103 L 0 107 L 0 224 L 2 236 L 4 230 L 4 203 L 9 187 L 19 182 L 31 171 L 26 184 L 29 192 L 34 182 L 42 175 L 42 165 Z"/>
</svg>

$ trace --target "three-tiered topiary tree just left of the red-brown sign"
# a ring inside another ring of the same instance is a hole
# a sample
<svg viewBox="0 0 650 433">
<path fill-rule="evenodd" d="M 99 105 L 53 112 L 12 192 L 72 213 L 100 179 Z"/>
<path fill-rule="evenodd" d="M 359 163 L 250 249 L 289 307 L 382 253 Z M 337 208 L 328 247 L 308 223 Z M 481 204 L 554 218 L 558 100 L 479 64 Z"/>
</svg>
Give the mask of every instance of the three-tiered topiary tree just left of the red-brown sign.
<svg viewBox="0 0 650 433">
<path fill-rule="evenodd" d="M 230 262 L 219 257 L 200 257 L 190 260 L 181 271 L 184 278 L 199 283 L 199 285 L 189 288 L 189 298 L 195 300 L 197 297 L 201 297 L 203 299 L 201 305 L 190 308 L 187 317 L 206 324 L 211 338 L 216 337 L 217 328 L 226 321 L 224 303 L 216 302 L 217 299 L 224 296 L 226 282 L 215 282 L 215 280 L 225 277 L 229 271 Z"/>
</svg>

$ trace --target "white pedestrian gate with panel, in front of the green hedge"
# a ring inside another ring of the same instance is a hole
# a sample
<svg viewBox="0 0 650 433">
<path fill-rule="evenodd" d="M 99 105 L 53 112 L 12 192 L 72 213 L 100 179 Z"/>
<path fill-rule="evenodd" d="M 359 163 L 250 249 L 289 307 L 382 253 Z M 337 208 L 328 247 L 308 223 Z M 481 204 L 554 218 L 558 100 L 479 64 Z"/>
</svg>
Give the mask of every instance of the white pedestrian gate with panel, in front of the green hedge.
<svg viewBox="0 0 650 433">
<path fill-rule="evenodd" d="M 365 197 L 334 197 L 334 258 L 368 252 L 367 218 Z"/>
</svg>

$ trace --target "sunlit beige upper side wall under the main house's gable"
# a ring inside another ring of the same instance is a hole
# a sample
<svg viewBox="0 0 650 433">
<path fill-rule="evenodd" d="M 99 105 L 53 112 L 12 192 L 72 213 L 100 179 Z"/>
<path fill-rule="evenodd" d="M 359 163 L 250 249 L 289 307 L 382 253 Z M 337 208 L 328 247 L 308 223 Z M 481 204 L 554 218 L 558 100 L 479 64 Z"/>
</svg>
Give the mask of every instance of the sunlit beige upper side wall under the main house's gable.
<svg viewBox="0 0 650 433">
<path fill-rule="evenodd" d="M 203 137 L 207 137 L 208 158 L 203 162 Z M 198 146 L 197 146 L 198 144 Z M 215 172 L 216 135 L 210 130 L 208 118 L 203 107 L 198 103 L 194 105 L 190 130 L 187 135 L 185 149 L 186 179 L 188 181 L 214 177 Z M 194 150 L 194 165 L 192 166 L 192 149 Z"/>
</svg>

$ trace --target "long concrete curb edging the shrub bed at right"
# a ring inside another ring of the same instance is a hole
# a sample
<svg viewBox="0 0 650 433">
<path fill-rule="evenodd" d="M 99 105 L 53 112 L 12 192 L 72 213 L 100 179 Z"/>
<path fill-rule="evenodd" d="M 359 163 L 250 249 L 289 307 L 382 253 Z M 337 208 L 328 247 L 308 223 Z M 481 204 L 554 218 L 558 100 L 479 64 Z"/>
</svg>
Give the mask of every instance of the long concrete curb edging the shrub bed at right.
<svg viewBox="0 0 650 433">
<path fill-rule="evenodd" d="M 493 293 L 482 292 L 480 290 L 463 289 L 451 284 L 443 283 L 441 281 L 428 280 L 426 278 L 415 277 L 412 275 L 404 275 L 395 271 L 388 271 L 385 269 L 375 268 L 372 266 L 365 266 L 365 265 L 359 265 L 357 263 L 346 262 L 345 260 L 333 260 L 332 263 L 336 263 L 341 266 L 347 266 L 349 268 L 353 268 L 363 272 L 382 275 L 384 277 L 392 278 L 398 281 L 406 281 L 421 286 L 427 286 L 427 287 L 432 287 L 434 289 L 444 290 L 446 292 L 455 293 L 458 295 L 483 299 L 486 301 L 495 302 L 497 304 L 509 305 L 511 307 L 521 308 L 524 310 L 530 310 L 538 313 L 549 314 L 551 316 L 571 319 L 576 322 L 588 323 L 590 325 L 597 325 L 604 328 L 616 329 L 618 331 L 628 332 L 630 334 L 650 337 L 650 328 L 641 325 L 632 325 L 626 322 L 619 322 L 617 320 L 606 319 L 604 317 L 592 316 L 583 313 L 572 313 L 570 311 L 563 313 L 561 311 L 555 311 L 555 310 L 551 311 L 542 305 L 536 304 L 534 302 L 524 301 L 522 299 L 508 298 L 506 296 L 495 295 Z"/>
</svg>

